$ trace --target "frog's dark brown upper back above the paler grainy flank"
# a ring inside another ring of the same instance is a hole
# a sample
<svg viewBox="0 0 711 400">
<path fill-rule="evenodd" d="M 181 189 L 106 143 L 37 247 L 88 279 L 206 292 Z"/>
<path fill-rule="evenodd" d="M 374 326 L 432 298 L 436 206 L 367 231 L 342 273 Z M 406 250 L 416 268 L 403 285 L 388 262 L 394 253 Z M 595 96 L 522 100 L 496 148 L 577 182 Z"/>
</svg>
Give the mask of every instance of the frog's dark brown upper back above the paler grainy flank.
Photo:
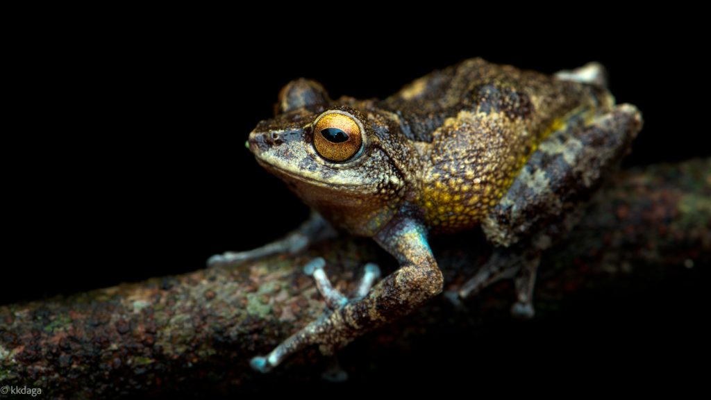
<svg viewBox="0 0 711 400">
<path fill-rule="evenodd" d="M 535 135 L 577 107 L 604 109 L 609 105 L 611 98 L 601 87 L 494 65 L 481 58 L 434 71 L 382 102 L 383 108 L 401 115 L 407 122 L 403 133 L 417 142 L 432 142 L 444 121 L 456 118 L 462 110 L 524 120 Z"/>
</svg>

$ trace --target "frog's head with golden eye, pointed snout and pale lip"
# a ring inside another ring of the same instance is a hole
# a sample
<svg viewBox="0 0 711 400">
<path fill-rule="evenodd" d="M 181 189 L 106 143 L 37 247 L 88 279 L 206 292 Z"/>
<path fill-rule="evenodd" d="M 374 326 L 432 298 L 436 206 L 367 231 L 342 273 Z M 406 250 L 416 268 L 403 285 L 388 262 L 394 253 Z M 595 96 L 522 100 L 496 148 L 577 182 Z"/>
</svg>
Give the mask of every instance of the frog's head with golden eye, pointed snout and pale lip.
<svg viewBox="0 0 711 400">
<path fill-rule="evenodd" d="M 311 80 L 279 94 L 277 115 L 250 133 L 262 167 L 336 226 L 372 235 L 407 196 L 412 149 L 397 115 L 372 101 L 332 101 Z"/>
</svg>

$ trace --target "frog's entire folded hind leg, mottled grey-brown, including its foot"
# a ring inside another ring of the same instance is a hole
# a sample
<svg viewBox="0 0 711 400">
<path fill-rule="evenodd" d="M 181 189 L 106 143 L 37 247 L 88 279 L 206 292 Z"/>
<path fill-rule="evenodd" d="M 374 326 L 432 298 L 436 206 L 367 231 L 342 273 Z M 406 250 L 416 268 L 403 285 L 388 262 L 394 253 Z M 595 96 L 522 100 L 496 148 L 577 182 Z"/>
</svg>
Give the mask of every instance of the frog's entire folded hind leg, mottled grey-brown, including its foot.
<svg viewBox="0 0 711 400">
<path fill-rule="evenodd" d="M 531 299 L 540 256 L 577 223 L 581 206 L 629 152 L 641 129 L 632 105 L 618 105 L 591 122 L 573 117 L 541 142 L 507 193 L 482 221 L 496 248 L 459 290 L 466 298 L 502 278 L 515 278 L 514 315 L 533 316 Z"/>
</svg>

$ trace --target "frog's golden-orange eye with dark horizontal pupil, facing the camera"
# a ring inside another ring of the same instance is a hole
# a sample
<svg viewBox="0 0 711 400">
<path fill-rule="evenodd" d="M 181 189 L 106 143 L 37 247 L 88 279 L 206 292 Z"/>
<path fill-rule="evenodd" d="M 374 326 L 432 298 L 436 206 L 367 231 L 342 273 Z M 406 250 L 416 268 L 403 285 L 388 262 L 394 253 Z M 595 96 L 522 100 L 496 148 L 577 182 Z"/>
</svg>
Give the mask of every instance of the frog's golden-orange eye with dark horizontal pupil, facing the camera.
<svg viewBox="0 0 711 400">
<path fill-rule="evenodd" d="M 360 126 L 351 115 L 328 112 L 314 123 L 314 147 L 328 161 L 346 161 L 358 153 L 362 144 Z"/>
</svg>

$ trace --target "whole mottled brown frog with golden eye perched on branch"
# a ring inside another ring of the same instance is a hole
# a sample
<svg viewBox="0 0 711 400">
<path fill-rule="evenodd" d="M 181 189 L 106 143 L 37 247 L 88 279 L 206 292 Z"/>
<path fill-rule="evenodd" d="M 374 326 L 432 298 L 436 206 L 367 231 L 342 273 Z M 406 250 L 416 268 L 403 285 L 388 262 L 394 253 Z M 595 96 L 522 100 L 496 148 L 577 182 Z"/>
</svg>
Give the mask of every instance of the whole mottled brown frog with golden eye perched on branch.
<svg viewBox="0 0 711 400">
<path fill-rule="evenodd" d="M 208 264 L 298 254 L 345 231 L 373 238 L 398 268 L 380 279 L 378 265 L 365 265 L 348 297 L 331 285 L 325 260 L 311 260 L 304 272 L 327 311 L 250 365 L 269 372 L 313 345 L 333 355 L 410 314 L 444 288 L 430 238 L 466 229 L 483 231 L 493 250 L 448 297 L 511 279 L 512 314 L 533 317 L 542 254 L 574 228 L 642 123 L 634 105 L 616 104 L 599 63 L 545 74 L 472 58 L 384 100 L 331 100 L 315 80 L 288 83 L 246 146 L 312 214 L 279 241 Z"/>
</svg>

